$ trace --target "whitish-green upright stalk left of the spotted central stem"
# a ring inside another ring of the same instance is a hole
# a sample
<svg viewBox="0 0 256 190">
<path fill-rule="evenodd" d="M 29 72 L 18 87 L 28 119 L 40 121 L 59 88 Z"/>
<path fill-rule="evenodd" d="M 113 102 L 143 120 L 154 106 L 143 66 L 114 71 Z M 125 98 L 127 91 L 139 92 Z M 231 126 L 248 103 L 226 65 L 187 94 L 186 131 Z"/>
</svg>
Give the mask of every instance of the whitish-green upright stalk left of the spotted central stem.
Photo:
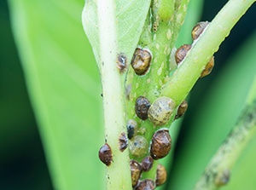
<svg viewBox="0 0 256 190">
<path fill-rule="evenodd" d="M 116 66 L 117 30 L 113 0 L 98 0 L 98 27 L 102 64 L 105 138 L 112 149 L 113 163 L 107 167 L 107 189 L 131 189 L 129 154 L 119 151 L 118 138 L 125 132 L 125 93 Z M 106 37 L 108 34 L 108 37 Z"/>
</svg>

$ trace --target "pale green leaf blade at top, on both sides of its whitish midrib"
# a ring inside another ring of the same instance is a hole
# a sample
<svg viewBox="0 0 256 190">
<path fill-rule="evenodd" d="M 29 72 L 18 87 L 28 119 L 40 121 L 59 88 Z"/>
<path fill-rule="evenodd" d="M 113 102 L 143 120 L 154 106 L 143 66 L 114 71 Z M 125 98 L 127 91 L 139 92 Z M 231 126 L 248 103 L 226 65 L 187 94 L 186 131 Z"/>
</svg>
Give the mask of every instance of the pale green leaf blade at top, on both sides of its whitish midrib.
<svg viewBox="0 0 256 190">
<path fill-rule="evenodd" d="M 128 63 L 131 61 L 131 56 L 137 47 L 137 43 L 143 25 L 148 14 L 150 0 L 116 0 L 116 26 L 119 52 L 124 53 L 128 58 Z M 99 65 L 99 32 L 97 27 L 97 6 L 96 1 L 88 0 L 85 2 L 82 14 L 84 32 L 90 40 L 91 47 L 96 57 L 96 62 Z M 108 32 L 106 32 L 108 35 Z M 108 37 L 108 36 L 106 36 Z M 111 50 L 111 49 L 110 49 Z"/>
</svg>

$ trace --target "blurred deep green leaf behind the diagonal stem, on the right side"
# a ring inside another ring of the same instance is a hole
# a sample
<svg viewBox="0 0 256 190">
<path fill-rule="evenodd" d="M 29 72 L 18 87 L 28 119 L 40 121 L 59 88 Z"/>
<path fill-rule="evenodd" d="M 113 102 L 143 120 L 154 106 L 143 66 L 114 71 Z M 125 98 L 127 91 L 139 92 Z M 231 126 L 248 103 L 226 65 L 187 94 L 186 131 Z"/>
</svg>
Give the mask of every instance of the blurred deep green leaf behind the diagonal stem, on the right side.
<svg viewBox="0 0 256 190">
<path fill-rule="evenodd" d="M 201 99 L 202 106 L 189 107 L 198 117 L 187 126 L 190 132 L 180 147 L 182 154 L 177 154 L 176 162 L 173 163 L 170 189 L 192 189 L 212 155 L 235 125 L 255 77 L 256 65 L 252 64 L 256 59 L 253 54 L 255 44 L 256 33 L 225 63 L 224 70 L 218 73 L 205 95 L 207 98 Z"/>
</svg>

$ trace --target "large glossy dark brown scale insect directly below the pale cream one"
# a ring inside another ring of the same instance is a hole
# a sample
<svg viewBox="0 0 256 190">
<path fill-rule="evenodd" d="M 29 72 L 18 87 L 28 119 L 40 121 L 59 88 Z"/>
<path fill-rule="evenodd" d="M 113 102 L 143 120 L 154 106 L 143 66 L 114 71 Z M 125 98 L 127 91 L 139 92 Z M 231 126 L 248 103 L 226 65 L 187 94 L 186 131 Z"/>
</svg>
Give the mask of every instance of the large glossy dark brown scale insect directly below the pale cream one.
<svg viewBox="0 0 256 190">
<path fill-rule="evenodd" d="M 169 130 L 158 130 L 152 137 L 150 155 L 154 159 L 164 158 L 170 152 L 172 138 Z"/>
</svg>

